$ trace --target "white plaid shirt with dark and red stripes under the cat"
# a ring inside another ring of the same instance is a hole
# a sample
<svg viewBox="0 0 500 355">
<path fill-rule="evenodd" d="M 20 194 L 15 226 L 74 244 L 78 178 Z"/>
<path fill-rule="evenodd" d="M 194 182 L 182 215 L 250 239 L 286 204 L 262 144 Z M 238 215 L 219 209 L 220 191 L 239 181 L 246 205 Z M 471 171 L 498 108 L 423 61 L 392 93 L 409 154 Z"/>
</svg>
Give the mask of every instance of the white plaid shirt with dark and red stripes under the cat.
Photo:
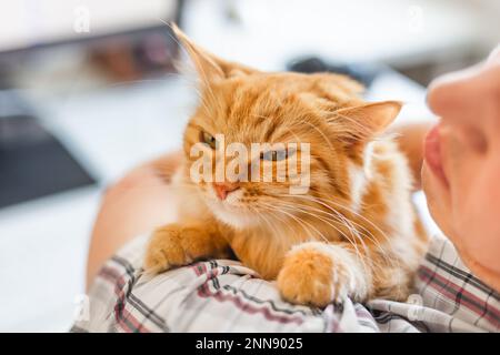
<svg viewBox="0 0 500 355">
<path fill-rule="evenodd" d="M 212 260 L 154 277 L 141 274 L 147 236 L 120 250 L 100 271 L 88 308 L 72 332 L 498 332 L 500 294 L 434 237 L 407 303 L 372 300 L 324 310 L 281 300 L 272 282 L 229 260 Z"/>
</svg>

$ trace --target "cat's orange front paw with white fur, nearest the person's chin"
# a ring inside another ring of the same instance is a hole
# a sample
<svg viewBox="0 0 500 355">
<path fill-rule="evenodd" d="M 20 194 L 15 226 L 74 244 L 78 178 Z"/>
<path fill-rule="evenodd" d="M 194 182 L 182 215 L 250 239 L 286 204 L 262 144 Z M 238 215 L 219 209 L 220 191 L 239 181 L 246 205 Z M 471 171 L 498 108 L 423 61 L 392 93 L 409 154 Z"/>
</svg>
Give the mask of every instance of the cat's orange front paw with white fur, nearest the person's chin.
<svg viewBox="0 0 500 355">
<path fill-rule="evenodd" d="M 278 288 L 290 303 L 324 307 L 347 296 L 359 300 L 367 284 L 356 257 L 341 246 L 310 242 L 296 246 L 278 274 Z"/>
</svg>

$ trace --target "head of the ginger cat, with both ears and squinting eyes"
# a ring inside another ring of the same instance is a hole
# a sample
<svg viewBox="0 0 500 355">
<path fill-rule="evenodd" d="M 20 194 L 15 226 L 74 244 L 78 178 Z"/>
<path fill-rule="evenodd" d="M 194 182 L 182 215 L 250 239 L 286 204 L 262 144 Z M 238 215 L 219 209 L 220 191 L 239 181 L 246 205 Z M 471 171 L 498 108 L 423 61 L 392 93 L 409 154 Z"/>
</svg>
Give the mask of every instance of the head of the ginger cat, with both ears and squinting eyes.
<svg viewBox="0 0 500 355">
<path fill-rule="evenodd" d="M 184 134 L 187 168 L 216 217 L 234 227 L 272 227 L 321 207 L 324 197 L 352 204 L 363 146 L 392 121 L 399 103 L 364 104 L 360 85 L 341 75 L 229 63 L 178 36 L 201 82 Z M 200 173 L 200 156 L 211 174 Z"/>
</svg>

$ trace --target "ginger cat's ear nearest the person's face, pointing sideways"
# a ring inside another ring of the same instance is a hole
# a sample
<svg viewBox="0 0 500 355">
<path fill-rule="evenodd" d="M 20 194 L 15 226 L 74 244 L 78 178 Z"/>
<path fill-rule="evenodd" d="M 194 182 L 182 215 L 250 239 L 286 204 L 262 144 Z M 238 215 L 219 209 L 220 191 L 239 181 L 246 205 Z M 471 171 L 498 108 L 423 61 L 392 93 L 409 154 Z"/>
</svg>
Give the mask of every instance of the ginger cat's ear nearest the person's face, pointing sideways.
<svg viewBox="0 0 500 355">
<path fill-rule="evenodd" d="M 353 139 L 363 140 L 382 132 L 396 120 L 401 108 L 399 101 L 367 103 L 337 110 L 331 121 L 342 122 Z"/>
</svg>

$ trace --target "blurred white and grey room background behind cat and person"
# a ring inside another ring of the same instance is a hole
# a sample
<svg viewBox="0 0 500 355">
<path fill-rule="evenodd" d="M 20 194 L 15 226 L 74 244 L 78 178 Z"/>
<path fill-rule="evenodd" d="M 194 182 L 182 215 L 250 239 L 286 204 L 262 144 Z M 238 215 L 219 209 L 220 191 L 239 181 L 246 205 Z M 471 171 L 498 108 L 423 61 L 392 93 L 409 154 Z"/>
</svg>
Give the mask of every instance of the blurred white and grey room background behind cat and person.
<svg viewBox="0 0 500 355">
<path fill-rule="evenodd" d="M 262 70 L 349 73 L 418 121 L 424 87 L 483 59 L 499 18 L 497 0 L 2 1 L 0 331 L 68 331 L 103 190 L 180 146 L 196 97 L 170 21 Z"/>
</svg>

